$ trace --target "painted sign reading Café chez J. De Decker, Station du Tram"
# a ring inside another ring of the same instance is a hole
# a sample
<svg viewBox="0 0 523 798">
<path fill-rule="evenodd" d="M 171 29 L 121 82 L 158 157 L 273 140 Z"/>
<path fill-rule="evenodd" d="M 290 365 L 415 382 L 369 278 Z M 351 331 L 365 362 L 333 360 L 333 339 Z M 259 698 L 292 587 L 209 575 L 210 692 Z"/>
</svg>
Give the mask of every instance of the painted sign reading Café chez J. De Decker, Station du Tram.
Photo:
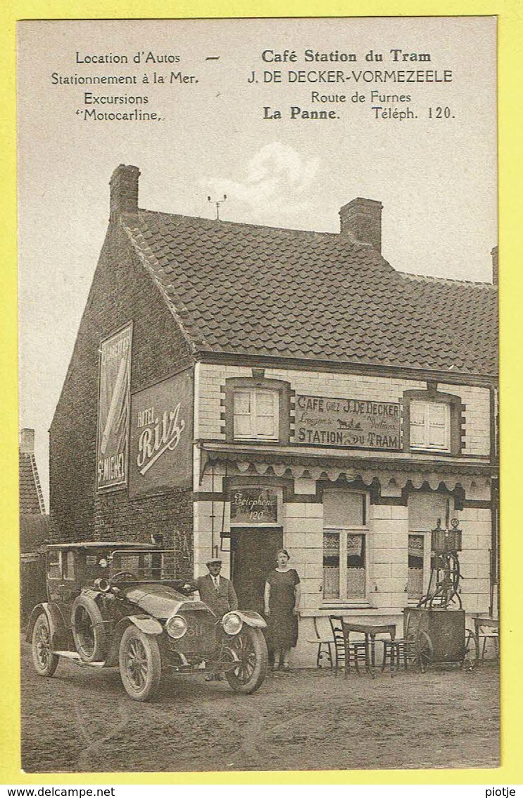
<svg viewBox="0 0 523 798">
<path fill-rule="evenodd" d="M 399 449 L 399 404 L 367 399 L 336 399 L 297 394 L 298 444 Z"/>
</svg>

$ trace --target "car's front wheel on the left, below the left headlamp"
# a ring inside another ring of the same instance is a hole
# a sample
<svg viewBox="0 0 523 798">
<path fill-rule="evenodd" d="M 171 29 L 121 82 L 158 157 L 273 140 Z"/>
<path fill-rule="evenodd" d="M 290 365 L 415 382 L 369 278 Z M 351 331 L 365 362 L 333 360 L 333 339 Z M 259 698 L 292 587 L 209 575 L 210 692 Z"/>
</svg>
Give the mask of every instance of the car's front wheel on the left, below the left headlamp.
<svg viewBox="0 0 523 798">
<path fill-rule="evenodd" d="M 127 627 L 120 641 L 120 678 L 135 701 L 149 701 L 157 693 L 162 678 L 162 658 L 158 641 L 134 624 Z"/>
</svg>

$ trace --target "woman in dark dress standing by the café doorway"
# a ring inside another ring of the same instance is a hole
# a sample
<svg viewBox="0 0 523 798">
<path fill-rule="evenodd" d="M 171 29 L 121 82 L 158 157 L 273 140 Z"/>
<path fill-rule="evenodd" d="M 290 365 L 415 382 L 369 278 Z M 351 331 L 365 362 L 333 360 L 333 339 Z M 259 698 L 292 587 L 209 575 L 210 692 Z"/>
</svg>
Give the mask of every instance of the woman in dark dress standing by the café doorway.
<svg viewBox="0 0 523 798">
<path fill-rule="evenodd" d="M 265 617 L 269 645 L 274 652 L 273 670 L 289 670 L 289 651 L 298 639 L 300 577 L 289 567 L 289 552 L 277 551 L 277 566 L 265 582 Z"/>
</svg>

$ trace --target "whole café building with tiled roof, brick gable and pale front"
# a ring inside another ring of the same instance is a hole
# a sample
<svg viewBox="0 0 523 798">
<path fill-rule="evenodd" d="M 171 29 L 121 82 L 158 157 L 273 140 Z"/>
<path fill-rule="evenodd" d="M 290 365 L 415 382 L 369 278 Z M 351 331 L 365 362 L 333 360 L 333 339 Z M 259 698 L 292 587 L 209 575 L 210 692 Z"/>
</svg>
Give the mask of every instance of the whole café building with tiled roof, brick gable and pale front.
<svg viewBox="0 0 523 798">
<path fill-rule="evenodd" d="M 163 535 L 180 575 L 221 555 L 261 608 L 283 543 L 311 618 L 398 622 L 458 517 L 462 601 L 497 583 L 497 290 L 395 271 L 381 203 L 340 233 L 145 211 L 108 233 L 50 430 L 55 539 Z"/>
</svg>

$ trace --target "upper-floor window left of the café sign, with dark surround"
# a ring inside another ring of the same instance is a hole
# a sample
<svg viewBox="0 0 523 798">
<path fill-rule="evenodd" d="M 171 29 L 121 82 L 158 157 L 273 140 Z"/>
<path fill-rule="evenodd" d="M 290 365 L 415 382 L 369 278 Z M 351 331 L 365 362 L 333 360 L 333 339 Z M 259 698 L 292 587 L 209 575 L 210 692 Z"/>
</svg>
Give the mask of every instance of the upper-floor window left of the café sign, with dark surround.
<svg viewBox="0 0 523 798">
<path fill-rule="evenodd" d="M 225 386 L 226 440 L 289 442 L 290 385 L 265 377 L 231 377 Z"/>
</svg>

